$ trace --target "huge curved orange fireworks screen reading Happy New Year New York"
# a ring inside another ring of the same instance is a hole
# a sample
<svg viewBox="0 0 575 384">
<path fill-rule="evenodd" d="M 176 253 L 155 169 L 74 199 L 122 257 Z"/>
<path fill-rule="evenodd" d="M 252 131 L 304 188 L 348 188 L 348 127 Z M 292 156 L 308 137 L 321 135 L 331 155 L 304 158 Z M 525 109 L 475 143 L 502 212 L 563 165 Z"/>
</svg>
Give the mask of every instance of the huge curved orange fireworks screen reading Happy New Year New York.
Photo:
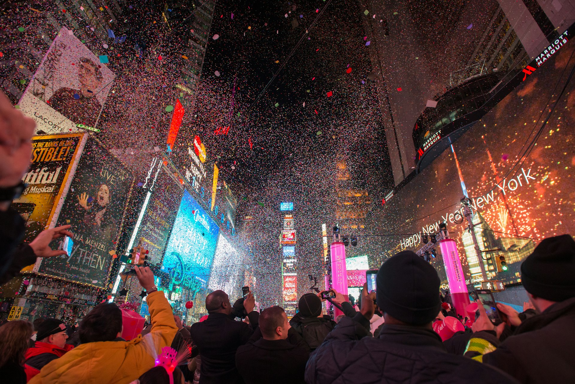
<svg viewBox="0 0 575 384">
<path fill-rule="evenodd" d="M 446 221 L 466 284 L 478 286 L 481 269 L 473 240 L 466 222 L 459 223 L 464 188 L 489 280 L 520 282 L 519 267 L 540 239 L 575 233 L 575 130 L 569 125 L 575 119 L 575 83 L 558 98 L 574 65 L 568 64 L 573 46 L 568 48 L 527 76 L 453 144 L 454 151 L 444 151 L 385 204 L 374 224 L 388 234 L 375 240 L 384 254 L 371 267 L 378 268 L 400 250 L 421 248 L 423 235 L 437 232 Z M 539 130 L 536 145 L 530 147 Z M 494 260 L 499 256 L 505 257 L 507 272 L 497 272 Z M 431 263 L 445 283 L 439 249 Z"/>
</svg>

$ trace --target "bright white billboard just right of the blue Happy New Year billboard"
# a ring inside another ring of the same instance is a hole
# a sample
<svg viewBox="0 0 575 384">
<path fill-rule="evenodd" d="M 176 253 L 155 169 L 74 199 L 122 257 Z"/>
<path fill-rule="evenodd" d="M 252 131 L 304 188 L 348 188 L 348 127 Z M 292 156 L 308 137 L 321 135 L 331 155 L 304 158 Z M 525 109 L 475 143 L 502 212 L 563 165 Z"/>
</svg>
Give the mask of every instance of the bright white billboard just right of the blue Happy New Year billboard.
<svg viewBox="0 0 575 384">
<path fill-rule="evenodd" d="M 243 260 L 240 257 L 240 253 L 220 233 L 212 272 L 210 272 L 209 290 L 222 290 L 231 298 L 238 297 L 244 277 L 242 266 Z"/>
</svg>

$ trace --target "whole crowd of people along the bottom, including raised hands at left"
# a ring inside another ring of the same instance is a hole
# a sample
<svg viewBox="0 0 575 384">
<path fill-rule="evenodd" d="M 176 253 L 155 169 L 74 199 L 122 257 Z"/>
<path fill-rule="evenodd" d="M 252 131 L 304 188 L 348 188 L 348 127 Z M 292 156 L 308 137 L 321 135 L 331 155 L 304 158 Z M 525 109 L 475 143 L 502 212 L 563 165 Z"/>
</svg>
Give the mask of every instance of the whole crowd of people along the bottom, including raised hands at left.
<svg viewBox="0 0 575 384">
<path fill-rule="evenodd" d="M 34 123 L 0 93 L 0 284 L 37 257 L 63 254 L 49 243 L 70 226 L 22 243 L 24 222 L 11 199 L 21 191 Z M 65 253 L 65 252 L 64 252 Z M 186 326 L 154 285 L 148 267 L 135 267 L 147 292 L 151 323 L 122 339 L 122 311 L 95 306 L 71 328 L 56 318 L 0 326 L 0 383 L 563 383 L 575 382 L 575 241 L 543 239 L 521 265 L 532 309 L 504 314 L 494 324 L 478 302 L 465 330 L 440 337 L 432 324 L 457 316 L 442 302 L 434 267 L 412 251 L 379 268 L 377 288 L 364 285 L 357 305 L 339 292 L 342 312 L 325 313 L 321 292 L 298 301 L 291 319 L 280 306 L 254 310 L 248 293 L 231 303 L 224 291 L 205 299 L 208 315 Z M 457 320 L 457 317 L 456 317 Z M 459 328 L 461 328 L 459 327 Z"/>
</svg>

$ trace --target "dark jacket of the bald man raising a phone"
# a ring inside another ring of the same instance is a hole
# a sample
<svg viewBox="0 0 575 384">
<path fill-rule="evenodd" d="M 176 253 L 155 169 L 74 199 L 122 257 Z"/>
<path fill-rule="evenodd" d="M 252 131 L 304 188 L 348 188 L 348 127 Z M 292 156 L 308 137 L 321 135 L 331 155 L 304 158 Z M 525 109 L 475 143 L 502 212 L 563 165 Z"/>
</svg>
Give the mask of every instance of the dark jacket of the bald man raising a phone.
<svg viewBox="0 0 575 384">
<path fill-rule="evenodd" d="M 259 313 L 251 311 L 248 318 L 250 324 L 258 325 Z M 249 325 L 223 313 L 210 314 L 205 321 L 192 324 L 191 339 L 202 356 L 200 384 L 242 383 L 236 370 L 236 351 L 253 333 Z"/>
</svg>

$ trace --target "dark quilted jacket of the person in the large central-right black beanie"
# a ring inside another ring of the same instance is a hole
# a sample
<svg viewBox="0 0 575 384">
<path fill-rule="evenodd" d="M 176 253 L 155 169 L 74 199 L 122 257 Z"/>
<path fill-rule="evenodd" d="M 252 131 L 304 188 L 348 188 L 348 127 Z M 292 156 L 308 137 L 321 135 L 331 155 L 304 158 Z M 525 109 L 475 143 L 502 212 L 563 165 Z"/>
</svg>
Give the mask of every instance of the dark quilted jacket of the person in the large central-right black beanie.
<svg viewBox="0 0 575 384">
<path fill-rule="evenodd" d="M 308 384 L 516 383 L 504 372 L 445 351 L 431 329 L 384 325 L 370 337 L 361 313 L 344 317 L 309 358 Z"/>
</svg>

